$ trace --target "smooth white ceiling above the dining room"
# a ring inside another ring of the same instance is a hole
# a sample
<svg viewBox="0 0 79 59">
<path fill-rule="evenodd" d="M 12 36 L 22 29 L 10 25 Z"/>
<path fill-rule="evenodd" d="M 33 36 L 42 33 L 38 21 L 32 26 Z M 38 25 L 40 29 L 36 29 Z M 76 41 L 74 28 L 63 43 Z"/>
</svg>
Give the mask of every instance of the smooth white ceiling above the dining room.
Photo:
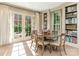
<svg viewBox="0 0 79 59">
<path fill-rule="evenodd" d="M 46 9 L 52 9 L 54 7 L 57 7 L 63 4 L 64 2 L 7 2 L 7 3 L 35 11 L 44 11 Z"/>
</svg>

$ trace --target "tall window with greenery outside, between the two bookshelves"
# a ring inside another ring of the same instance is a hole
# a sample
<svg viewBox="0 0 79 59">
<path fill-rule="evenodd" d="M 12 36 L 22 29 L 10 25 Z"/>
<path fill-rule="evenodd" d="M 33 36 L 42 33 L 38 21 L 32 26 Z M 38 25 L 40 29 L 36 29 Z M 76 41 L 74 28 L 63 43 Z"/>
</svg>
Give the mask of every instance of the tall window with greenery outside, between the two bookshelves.
<svg viewBox="0 0 79 59">
<path fill-rule="evenodd" d="M 56 10 L 51 13 L 51 27 L 54 31 L 54 36 L 60 35 L 61 33 L 61 10 Z"/>
</svg>

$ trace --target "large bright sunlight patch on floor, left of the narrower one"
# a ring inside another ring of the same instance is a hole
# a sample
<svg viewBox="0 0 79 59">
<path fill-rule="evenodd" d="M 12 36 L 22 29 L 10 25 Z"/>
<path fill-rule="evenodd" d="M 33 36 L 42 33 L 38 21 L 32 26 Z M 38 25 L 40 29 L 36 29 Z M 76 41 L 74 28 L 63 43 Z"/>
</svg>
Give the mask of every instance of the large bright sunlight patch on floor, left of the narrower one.
<svg viewBox="0 0 79 59">
<path fill-rule="evenodd" d="M 23 43 L 16 43 L 13 45 L 12 56 L 26 56 Z"/>
</svg>

